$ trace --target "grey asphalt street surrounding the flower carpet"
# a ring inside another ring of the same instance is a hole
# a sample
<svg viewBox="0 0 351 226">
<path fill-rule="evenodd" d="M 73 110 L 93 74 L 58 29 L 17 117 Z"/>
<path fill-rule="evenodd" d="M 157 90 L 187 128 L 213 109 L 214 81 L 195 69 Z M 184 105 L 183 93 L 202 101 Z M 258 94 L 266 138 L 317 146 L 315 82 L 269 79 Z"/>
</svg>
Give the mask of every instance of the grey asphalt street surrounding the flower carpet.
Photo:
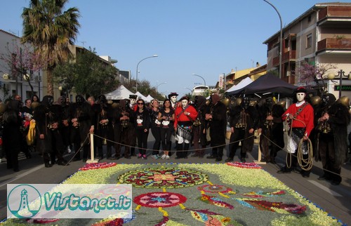
<svg viewBox="0 0 351 226">
<path fill-rule="evenodd" d="M 152 147 L 153 137 L 149 135 L 150 141 L 148 147 Z M 227 152 L 227 147 L 225 153 Z M 258 147 L 255 145 L 254 150 L 248 155 L 247 161 L 252 162 L 258 159 Z M 122 149 L 123 152 L 123 149 Z M 211 149 L 206 150 L 208 155 Z M 150 155 L 151 153 L 148 153 Z M 6 168 L 6 163 L 0 164 L 0 218 L 6 218 L 6 185 L 8 183 L 20 184 L 20 183 L 31 183 L 31 184 L 51 184 L 60 183 L 65 180 L 69 175 L 75 173 L 78 168 L 84 166 L 82 161 L 71 162 L 69 166 L 58 166 L 54 165 L 51 168 L 45 168 L 43 161 L 39 154 L 34 152 L 32 159 L 25 159 L 24 155 L 20 155 L 20 171 L 13 172 Z M 65 158 L 69 159 L 72 155 L 68 155 Z M 225 159 L 225 158 L 224 158 Z M 225 161 L 221 163 L 225 163 Z M 102 159 L 102 161 L 110 162 L 111 160 Z M 234 158 L 234 161 L 239 161 L 238 157 Z M 298 173 L 289 174 L 277 174 L 280 166 L 283 166 L 285 161 L 284 152 L 279 152 L 277 157 L 277 165 L 274 164 L 261 164 L 263 169 L 274 177 L 284 182 L 287 186 L 301 194 L 303 197 L 309 199 L 312 203 L 322 207 L 326 212 L 330 213 L 343 223 L 351 225 L 351 164 L 347 163 L 343 165 L 341 175 L 343 182 L 340 185 L 334 186 L 327 181 L 317 180 L 319 175 L 322 175 L 321 164 L 318 162 L 312 168 L 310 178 L 303 178 Z M 147 160 L 137 159 L 132 157 L 131 159 L 119 159 L 117 163 L 124 164 L 143 164 L 143 163 L 163 163 L 163 162 L 181 162 L 181 163 L 215 163 L 214 159 L 199 159 L 195 157 L 189 157 L 188 159 L 175 159 L 175 155 L 171 156 L 168 161 L 164 159 L 154 160 L 150 156 Z"/>
</svg>

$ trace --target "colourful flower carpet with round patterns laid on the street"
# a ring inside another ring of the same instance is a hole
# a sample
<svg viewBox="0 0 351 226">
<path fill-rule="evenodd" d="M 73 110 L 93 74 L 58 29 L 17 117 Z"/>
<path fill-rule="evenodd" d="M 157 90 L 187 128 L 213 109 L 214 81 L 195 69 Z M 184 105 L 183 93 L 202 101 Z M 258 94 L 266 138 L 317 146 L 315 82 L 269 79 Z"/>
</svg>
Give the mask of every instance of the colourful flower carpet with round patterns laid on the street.
<svg viewBox="0 0 351 226">
<path fill-rule="evenodd" d="M 129 219 L 4 225 L 342 225 L 256 164 L 87 164 L 64 184 L 131 184 Z"/>
</svg>

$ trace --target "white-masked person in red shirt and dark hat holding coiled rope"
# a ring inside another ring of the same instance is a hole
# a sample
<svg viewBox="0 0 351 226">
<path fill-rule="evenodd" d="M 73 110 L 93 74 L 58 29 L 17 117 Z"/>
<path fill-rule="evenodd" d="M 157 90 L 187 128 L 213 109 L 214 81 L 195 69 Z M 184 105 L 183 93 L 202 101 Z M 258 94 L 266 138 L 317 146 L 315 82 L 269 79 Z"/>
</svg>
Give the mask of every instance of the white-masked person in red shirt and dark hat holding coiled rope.
<svg viewBox="0 0 351 226">
<path fill-rule="evenodd" d="M 314 111 L 312 105 L 305 101 L 307 91 L 304 87 L 297 88 L 295 93 L 297 101 L 290 105 L 282 116 L 283 120 L 288 120 L 291 127 L 291 133 L 289 130 L 287 145 L 289 156 L 286 160 L 285 166 L 278 171 L 278 173 L 291 173 L 293 168 L 296 167 L 298 161 L 297 155 L 299 148 L 302 149 L 303 159 L 309 158 L 309 153 L 307 152 L 307 140 L 314 127 Z M 301 139 L 303 140 L 303 145 L 300 146 Z M 301 174 L 304 178 L 310 177 L 310 170 L 307 170 L 310 164 L 312 164 L 312 161 L 302 167 L 303 171 L 301 171 Z"/>
</svg>

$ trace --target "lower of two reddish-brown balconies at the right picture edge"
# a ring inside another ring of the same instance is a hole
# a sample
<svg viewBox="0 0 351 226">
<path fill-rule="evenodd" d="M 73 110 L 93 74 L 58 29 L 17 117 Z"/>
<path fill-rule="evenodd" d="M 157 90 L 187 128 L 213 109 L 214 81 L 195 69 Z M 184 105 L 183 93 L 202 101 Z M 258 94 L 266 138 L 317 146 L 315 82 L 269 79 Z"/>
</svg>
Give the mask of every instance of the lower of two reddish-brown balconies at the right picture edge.
<svg viewBox="0 0 351 226">
<path fill-rule="evenodd" d="M 321 51 L 351 51 L 351 39 L 323 39 L 317 44 L 317 52 Z"/>
</svg>

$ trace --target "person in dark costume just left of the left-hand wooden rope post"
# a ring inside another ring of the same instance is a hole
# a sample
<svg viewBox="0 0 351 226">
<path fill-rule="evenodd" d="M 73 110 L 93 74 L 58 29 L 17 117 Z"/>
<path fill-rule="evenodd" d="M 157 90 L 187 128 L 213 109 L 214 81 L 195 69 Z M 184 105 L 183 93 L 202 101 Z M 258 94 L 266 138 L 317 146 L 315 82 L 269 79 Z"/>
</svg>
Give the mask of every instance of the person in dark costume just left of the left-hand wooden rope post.
<svg viewBox="0 0 351 226">
<path fill-rule="evenodd" d="M 76 102 L 71 107 L 70 118 L 72 122 L 71 137 L 74 143 L 74 161 L 81 159 L 80 149 L 83 148 L 83 161 L 86 162 L 89 153 L 88 133 L 94 132 L 93 110 L 82 95 L 76 96 Z M 78 152 L 78 153 L 77 153 Z"/>
</svg>

